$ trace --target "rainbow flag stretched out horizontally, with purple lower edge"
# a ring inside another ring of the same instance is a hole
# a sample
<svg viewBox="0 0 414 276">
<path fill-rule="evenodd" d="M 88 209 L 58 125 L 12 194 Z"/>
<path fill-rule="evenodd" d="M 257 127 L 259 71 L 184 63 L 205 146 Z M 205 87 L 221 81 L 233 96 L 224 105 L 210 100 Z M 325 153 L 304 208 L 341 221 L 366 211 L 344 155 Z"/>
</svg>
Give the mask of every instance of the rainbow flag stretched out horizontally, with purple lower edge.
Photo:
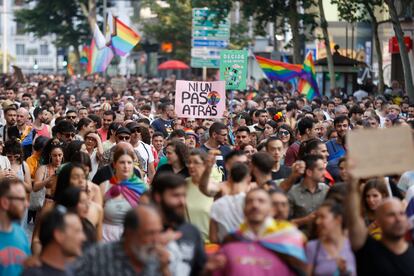
<svg viewBox="0 0 414 276">
<path fill-rule="evenodd" d="M 273 81 L 287 82 L 303 74 L 303 66 L 301 64 L 290 64 L 260 56 L 256 56 L 256 60 L 266 76 Z"/>
</svg>

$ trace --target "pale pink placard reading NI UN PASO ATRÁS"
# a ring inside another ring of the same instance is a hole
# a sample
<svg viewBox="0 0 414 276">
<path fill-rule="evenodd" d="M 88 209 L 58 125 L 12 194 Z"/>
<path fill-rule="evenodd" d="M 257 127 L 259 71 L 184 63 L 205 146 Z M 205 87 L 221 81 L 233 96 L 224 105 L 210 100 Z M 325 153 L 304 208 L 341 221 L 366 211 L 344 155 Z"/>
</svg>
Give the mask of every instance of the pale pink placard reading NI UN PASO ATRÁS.
<svg viewBox="0 0 414 276">
<path fill-rule="evenodd" d="M 178 117 L 221 118 L 225 108 L 224 81 L 176 81 L 175 113 Z"/>
</svg>

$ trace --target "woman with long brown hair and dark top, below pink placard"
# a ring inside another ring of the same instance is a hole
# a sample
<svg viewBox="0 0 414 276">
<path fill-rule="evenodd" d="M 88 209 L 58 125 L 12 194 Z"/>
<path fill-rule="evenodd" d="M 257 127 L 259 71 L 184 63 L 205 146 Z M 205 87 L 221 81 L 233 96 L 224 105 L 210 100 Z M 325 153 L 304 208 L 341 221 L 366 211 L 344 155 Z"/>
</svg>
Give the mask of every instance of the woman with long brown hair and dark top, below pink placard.
<svg viewBox="0 0 414 276">
<path fill-rule="evenodd" d="M 184 143 L 178 140 L 170 141 L 166 147 L 166 156 L 167 164 L 158 168 L 154 178 L 164 172 L 180 174 L 185 178 L 190 176 L 187 168 L 188 151 Z"/>
</svg>

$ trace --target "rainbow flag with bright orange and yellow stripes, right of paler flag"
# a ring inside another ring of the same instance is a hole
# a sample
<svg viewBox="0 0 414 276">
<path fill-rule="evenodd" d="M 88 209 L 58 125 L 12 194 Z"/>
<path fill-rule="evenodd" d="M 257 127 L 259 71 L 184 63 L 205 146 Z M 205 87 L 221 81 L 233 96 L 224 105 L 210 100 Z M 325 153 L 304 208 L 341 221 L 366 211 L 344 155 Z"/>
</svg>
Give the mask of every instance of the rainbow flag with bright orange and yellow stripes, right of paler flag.
<svg viewBox="0 0 414 276">
<path fill-rule="evenodd" d="M 114 49 L 115 54 L 118 56 L 125 56 L 138 44 L 141 37 L 118 18 L 113 17 L 112 19 L 114 33 L 111 35 L 111 46 Z M 112 22 L 112 20 L 109 20 L 108 18 L 108 23 L 110 22 Z M 109 28 L 111 28 L 111 26 L 109 26 Z M 106 40 L 108 41 L 108 38 Z"/>
</svg>

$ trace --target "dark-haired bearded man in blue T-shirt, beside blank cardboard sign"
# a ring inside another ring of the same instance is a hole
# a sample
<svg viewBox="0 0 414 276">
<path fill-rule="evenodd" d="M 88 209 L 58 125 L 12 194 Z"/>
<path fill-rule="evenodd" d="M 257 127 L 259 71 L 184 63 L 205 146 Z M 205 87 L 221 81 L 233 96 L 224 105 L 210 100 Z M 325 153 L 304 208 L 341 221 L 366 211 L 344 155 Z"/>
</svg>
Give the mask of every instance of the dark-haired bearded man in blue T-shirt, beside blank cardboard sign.
<svg viewBox="0 0 414 276">
<path fill-rule="evenodd" d="M 339 179 L 339 168 L 338 161 L 341 157 L 345 156 L 345 136 L 349 130 L 350 120 L 345 115 L 340 115 L 335 117 L 334 127 L 338 138 L 334 138 L 326 142 L 326 147 L 328 148 L 329 157 L 328 157 L 328 166 L 327 170 L 335 179 L 335 181 L 340 181 Z"/>
</svg>

